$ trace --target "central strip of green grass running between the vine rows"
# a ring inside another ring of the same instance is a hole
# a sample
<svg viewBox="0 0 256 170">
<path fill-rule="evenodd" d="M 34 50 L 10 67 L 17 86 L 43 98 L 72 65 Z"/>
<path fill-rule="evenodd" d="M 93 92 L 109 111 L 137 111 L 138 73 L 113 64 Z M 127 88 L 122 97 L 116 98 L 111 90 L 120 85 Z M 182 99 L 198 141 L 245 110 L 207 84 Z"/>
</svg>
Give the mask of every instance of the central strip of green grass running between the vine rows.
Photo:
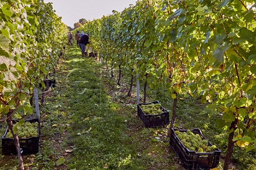
<svg viewBox="0 0 256 170">
<path fill-rule="evenodd" d="M 137 143 L 125 134 L 127 118 L 120 115 L 123 108 L 107 95 L 100 65 L 92 58 L 73 63 L 75 69 L 82 70 L 69 77 L 69 107 L 74 120 L 70 131 L 74 151 L 69 168 L 148 169 L 137 155 Z"/>
</svg>

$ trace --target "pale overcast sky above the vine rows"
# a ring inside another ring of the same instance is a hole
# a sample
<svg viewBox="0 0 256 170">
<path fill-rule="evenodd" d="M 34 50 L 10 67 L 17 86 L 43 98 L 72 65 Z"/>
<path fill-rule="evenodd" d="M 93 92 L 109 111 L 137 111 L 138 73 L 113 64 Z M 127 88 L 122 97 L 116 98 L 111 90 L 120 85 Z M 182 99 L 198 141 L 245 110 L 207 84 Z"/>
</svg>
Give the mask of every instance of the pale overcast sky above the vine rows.
<svg viewBox="0 0 256 170">
<path fill-rule="evenodd" d="M 62 22 L 70 27 L 79 19 L 93 20 L 112 14 L 113 10 L 122 12 L 130 4 L 135 5 L 137 0 L 44 0 L 52 2 L 55 13 L 62 17 Z"/>
</svg>

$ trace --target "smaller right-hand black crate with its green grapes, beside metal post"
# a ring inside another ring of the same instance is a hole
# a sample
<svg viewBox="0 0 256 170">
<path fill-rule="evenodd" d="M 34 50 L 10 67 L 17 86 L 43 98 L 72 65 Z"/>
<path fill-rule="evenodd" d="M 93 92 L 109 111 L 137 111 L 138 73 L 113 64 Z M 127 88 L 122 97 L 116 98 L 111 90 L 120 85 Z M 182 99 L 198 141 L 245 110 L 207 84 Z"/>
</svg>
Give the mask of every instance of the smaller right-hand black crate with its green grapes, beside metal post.
<svg viewBox="0 0 256 170">
<path fill-rule="evenodd" d="M 137 109 L 138 115 L 146 128 L 165 126 L 170 123 L 169 111 L 163 108 L 159 101 L 146 104 L 139 103 Z"/>
</svg>

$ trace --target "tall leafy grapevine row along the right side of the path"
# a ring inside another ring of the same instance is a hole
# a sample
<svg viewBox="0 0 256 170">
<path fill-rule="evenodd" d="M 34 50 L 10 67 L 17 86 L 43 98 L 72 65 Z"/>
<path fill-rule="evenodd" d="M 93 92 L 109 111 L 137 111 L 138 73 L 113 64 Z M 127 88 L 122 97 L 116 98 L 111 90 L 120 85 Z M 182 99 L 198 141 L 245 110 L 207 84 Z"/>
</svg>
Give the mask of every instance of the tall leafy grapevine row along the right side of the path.
<svg viewBox="0 0 256 170">
<path fill-rule="evenodd" d="M 210 103 L 209 115 L 223 114 L 219 128 L 229 129 L 224 169 L 235 143 L 256 149 L 255 6 L 252 1 L 143 0 L 98 20 L 101 32 L 108 32 L 100 34 L 103 56 L 142 75 L 150 88 L 164 87 L 174 100 L 172 125 L 179 95 L 200 96 Z M 121 25 L 119 37 L 113 22 Z M 113 57 L 119 50 L 129 52 L 125 61 Z"/>
</svg>

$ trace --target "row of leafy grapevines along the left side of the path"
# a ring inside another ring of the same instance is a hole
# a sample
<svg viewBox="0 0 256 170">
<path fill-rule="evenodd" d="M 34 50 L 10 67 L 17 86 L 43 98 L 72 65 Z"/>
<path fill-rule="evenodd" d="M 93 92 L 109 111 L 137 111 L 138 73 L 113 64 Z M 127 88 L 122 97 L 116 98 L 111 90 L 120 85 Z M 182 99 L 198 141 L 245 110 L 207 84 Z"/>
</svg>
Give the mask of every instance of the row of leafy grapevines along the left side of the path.
<svg viewBox="0 0 256 170">
<path fill-rule="evenodd" d="M 67 26 L 61 22 L 52 5 L 43 1 L 0 2 L 0 112 L 13 135 L 23 169 L 23 159 L 12 117 L 16 109 L 32 113 L 29 100 L 33 88 L 42 83 L 57 65 Z"/>
</svg>

